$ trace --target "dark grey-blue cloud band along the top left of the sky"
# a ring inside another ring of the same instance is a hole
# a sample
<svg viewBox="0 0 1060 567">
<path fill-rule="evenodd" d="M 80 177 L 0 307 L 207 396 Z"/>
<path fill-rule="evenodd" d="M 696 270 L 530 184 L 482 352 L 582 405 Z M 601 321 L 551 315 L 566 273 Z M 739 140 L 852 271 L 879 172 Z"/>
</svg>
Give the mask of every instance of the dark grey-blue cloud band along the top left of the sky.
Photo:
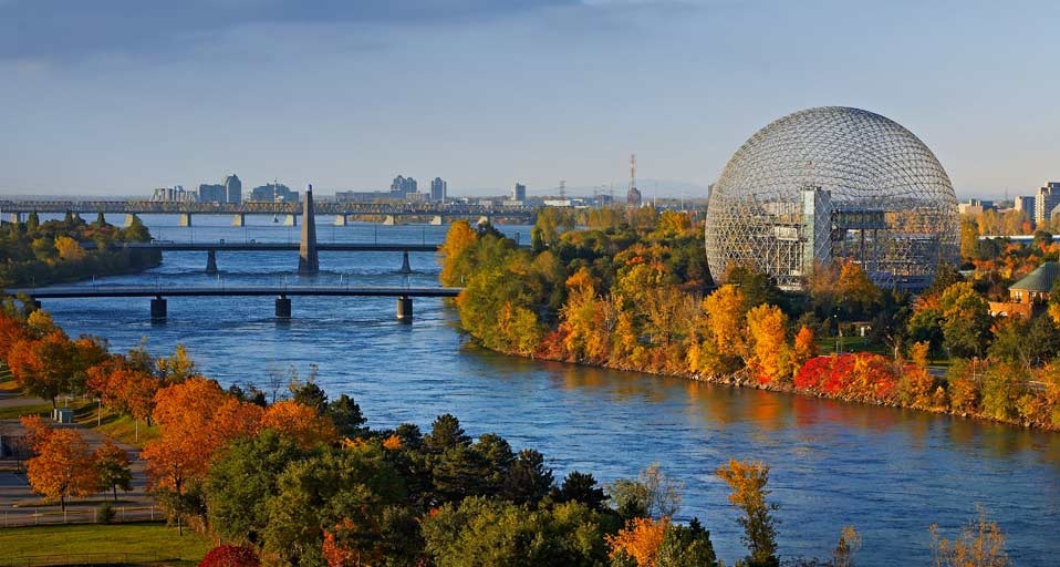
<svg viewBox="0 0 1060 567">
<path fill-rule="evenodd" d="M 154 53 L 249 24 L 476 22 L 579 0 L 0 0 L 0 60 Z"/>
</svg>

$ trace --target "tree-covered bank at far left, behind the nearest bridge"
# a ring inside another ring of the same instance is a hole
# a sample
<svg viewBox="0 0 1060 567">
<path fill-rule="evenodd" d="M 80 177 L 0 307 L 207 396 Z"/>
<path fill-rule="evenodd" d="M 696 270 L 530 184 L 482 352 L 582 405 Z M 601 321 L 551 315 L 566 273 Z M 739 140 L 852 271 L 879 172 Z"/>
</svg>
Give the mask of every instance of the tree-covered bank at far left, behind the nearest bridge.
<svg viewBox="0 0 1060 567">
<path fill-rule="evenodd" d="M 25 223 L 0 226 L 0 289 L 51 284 L 143 270 L 157 266 L 157 250 L 112 248 L 147 243 L 150 234 L 138 217 L 126 228 L 108 225 L 101 213 L 86 223 L 71 213 L 63 220 L 41 223 L 31 213 Z M 85 249 L 82 243 L 94 243 Z"/>
</svg>

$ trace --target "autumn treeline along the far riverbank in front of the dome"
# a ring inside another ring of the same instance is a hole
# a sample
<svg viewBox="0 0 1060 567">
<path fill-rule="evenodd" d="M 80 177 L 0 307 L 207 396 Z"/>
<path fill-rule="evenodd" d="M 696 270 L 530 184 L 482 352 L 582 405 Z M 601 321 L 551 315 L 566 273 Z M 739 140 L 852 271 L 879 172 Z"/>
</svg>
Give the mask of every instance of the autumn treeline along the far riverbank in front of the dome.
<svg viewBox="0 0 1060 567">
<path fill-rule="evenodd" d="M 995 321 L 990 278 L 952 266 L 918 298 L 852 262 L 818 266 L 801 293 L 741 267 L 714 289 L 688 216 L 606 210 L 583 230 L 542 210 L 530 249 L 454 223 L 440 278 L 465 288 L 463 328 L 510 354 L 1060 427 L 1060 305 Z M 854 333 L 872 352 L 840 352 Z M 938 357 L 945 377 L 928 371 Z"/>
</svg>

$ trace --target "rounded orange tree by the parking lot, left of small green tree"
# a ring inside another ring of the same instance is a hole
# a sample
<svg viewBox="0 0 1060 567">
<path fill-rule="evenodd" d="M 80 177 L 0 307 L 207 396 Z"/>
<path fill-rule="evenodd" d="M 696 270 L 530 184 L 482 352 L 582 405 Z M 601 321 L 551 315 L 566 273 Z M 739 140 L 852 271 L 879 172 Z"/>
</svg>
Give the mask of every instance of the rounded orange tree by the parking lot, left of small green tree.
<svg viewBox="0 0 1060 567">
<path fill-rule="evenodd" d="M 66 512 L 67 498 L 89 496 L 100 489 L 92 452 L 77 430 L 51 432 L 40 444 L 38 455 L 25 464 L 25 476 L 33 492 L 46 501 L 59 501 L 63 512 Z"/>
</svg>

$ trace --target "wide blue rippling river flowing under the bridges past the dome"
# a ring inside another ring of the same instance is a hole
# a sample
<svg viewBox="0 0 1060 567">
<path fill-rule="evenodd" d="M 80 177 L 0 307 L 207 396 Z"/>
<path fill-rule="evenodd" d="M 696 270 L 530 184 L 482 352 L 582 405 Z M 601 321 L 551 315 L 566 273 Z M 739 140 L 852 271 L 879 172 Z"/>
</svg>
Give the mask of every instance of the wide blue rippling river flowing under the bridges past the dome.
<svg viewBox="0 0 1060 567">
<path fill-rule="evenodd" d="M 248 216 L 200 215 L 195 226 L 145 216 L 159 239 L 298 241 L 299 227 Z M 108 218 L 121 221 L 122 218 Z M 318 219 L 319 240 L 437 243 L 445 227 L 350 225 Z M 529 241 L 529 227 L 506 227 Z M 437 285 L 433 254 L 322 252 L 316 282 Z M 204 274 L 205 252 L 166 252 L 160 267 L 108 284 L 187 286 L 304 281 L 294 252 L 219 252 L 221 272 Z M 96 280 L 98 282 L 100 280 Z M 83 285 L 94 285 L 86 281 Z M 222 384 L 254 383 L 319 365 L 319 384 L 350 394 L 368 424 L 429 430 L 440 413 L 471 435 L 496 432 L 516 449 L 541 451 L 557 480 L 579 470 L 602 482 L 632 477 L 658 462 L 684 483 L 679 519 L 698 516 L 726 564 L 744 555 L 737 513 L 713 471 L 728 458 L 771 466 L 786 558 L 827 557 L 853 524 L 861 565 L 929 565 L 928 526 L 953 537 L 984 506 L 1008 537 L 1017 565 L 1060 557 L 1060 434 L 891 408 L 851 405 L 630 372 L 529 361 L 486 352 L 459 332 L 440 299 L 415 299 L 415 321 L 395 318 L 393 298 L 293 298 L 292 320 L 273 318 L 272 298 L 169 298 L 165 323 L 148 320 L 147 299 L 56 299 L 48 309 L 71 336 L 97 334 L 127 351 L 146 338 L 155 354 L 183 343 Z"/>
</svg>

